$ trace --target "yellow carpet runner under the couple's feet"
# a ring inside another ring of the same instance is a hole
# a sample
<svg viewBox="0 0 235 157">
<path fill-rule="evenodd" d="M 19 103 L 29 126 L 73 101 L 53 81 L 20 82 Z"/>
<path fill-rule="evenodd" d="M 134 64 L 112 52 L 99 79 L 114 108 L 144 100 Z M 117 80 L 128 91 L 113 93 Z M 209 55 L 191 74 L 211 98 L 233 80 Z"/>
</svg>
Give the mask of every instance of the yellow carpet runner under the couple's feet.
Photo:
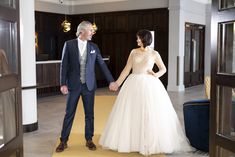
<svg viewBox="0 0 235 157">
<path fill-rule="evenodd" d="M 97 144 L 96 151 L 90 151 L 85 147 L 84 111 L 82 102 L 79 101 L 68 148 L 62 153 L 54 152 L 52 157 L 142 157 L 143 155 L 139 153 L 118 153 L 111 150 L 104 150 L 98 145 L 100 134 L 112 109 L 115 98 L 115 96 L 96 96 L 95 98 L 95 135 L 93 141 Z M 151 155 L 151 157 L 165 157 L 165 155 Z"/>
</svg>

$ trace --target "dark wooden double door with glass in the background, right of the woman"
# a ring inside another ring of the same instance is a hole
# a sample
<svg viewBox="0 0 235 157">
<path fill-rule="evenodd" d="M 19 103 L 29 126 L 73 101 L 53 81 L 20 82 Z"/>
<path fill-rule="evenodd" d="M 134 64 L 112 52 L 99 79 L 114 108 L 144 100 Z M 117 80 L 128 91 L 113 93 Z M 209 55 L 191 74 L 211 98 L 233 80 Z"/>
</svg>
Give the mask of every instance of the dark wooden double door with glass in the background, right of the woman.
<svg viewBox="0 0 235 157">
<path fill-rule="evenodd" d="M 204 82 L 205 26 L 185 23 L 184 85 Z"/>
</svg>

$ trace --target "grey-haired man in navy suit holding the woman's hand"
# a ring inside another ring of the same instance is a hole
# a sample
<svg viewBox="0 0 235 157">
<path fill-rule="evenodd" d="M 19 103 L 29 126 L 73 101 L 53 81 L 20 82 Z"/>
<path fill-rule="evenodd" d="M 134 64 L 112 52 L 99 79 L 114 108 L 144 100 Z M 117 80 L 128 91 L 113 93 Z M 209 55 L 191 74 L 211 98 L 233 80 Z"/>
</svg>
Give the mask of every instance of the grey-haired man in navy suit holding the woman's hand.
<svg viewBox="0 0 235 157">
<path fill-rule="evenodd" d="M 96 89 L 95 65 L 98 64 L 106 80 L 109 82 L 110 90 L 117 88 L 114 79 L 108 70 L 99 48 L 90 42 L 94 30 L 88 21 L 81 22 L 77 27 L 77 39 L 65 42 L 60 69 L 61 92 L 68 94 L 66 103 L 66 114 L 61 131 L 60 144 L 56 152 L 66 149 L 67 141 L 71 131 L 77 104 L 82 96 L 85 112 L 85 139 L 89 150 L 96 150 L 92 141 L 94 134 L 94 97 Z"/>
</svg>

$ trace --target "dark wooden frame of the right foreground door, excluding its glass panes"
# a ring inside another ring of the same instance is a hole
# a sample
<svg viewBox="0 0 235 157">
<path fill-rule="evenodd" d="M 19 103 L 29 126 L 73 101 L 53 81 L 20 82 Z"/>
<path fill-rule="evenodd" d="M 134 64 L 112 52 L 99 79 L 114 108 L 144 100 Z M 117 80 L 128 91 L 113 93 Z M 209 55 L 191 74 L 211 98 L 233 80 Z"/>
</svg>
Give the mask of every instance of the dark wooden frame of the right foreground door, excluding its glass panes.
<svg viewBox="0 0 235 157">
<path fill-rule="evenodd" d="M 212 16 L 211 16 L 211 105 L 210 105 L 210 154 L 211 157 L 218 157 L 218 147 L 235 152 L 235 141 L 228 139 L 224 135 L 218 134 L 218 122 L 217 115 L 221 113 L 219 110 L 220 103 L 227 104 L 227 100 L 231 101 L 231 96 L 222 95 L 224 100 L 217 102 L 220 95 L 217 95 L 217 86 L 235 87 L 235 75 L 218 73 L 218 52 L 221 49 L 222 34 L 219 32 L 219 24 L 235 21 L 235 8 L 219 10 L 219 0 L 212 1 Z M 226 93 L 224 93 L 226 94 Z M 226 107 L 226 106 L 225 106 Z M 228 109 L 228 107 L 226 107 Z M 226 109 L 224 112 L 226 112 Z"/>
</svg>

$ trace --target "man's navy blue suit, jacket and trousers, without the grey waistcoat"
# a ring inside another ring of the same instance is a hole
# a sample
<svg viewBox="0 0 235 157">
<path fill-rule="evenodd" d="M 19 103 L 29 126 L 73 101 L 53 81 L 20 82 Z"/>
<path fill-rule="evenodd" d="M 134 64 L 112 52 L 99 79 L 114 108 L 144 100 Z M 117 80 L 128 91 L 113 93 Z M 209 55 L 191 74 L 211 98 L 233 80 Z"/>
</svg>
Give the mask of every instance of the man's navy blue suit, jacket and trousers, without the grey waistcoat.
<svg viewBox="0 0 235 157">
<path fill-rule="evenodd" d="M 87 61 L 84 84 L 80 81 L 80 52 L 78 39 L 65 42 L 60 69 L 60 84 L 67 85 L 68 95 L 61 141 L 68 141 L 79 97 L 82 96 L 85 112 L 85 138 L 92 140 L 94 134 L 94 97 L 96 89 L 95 66 L 98 65 L 108 83 L 114 81 L 96 44 L 87 42 Z"/>
</svg>

